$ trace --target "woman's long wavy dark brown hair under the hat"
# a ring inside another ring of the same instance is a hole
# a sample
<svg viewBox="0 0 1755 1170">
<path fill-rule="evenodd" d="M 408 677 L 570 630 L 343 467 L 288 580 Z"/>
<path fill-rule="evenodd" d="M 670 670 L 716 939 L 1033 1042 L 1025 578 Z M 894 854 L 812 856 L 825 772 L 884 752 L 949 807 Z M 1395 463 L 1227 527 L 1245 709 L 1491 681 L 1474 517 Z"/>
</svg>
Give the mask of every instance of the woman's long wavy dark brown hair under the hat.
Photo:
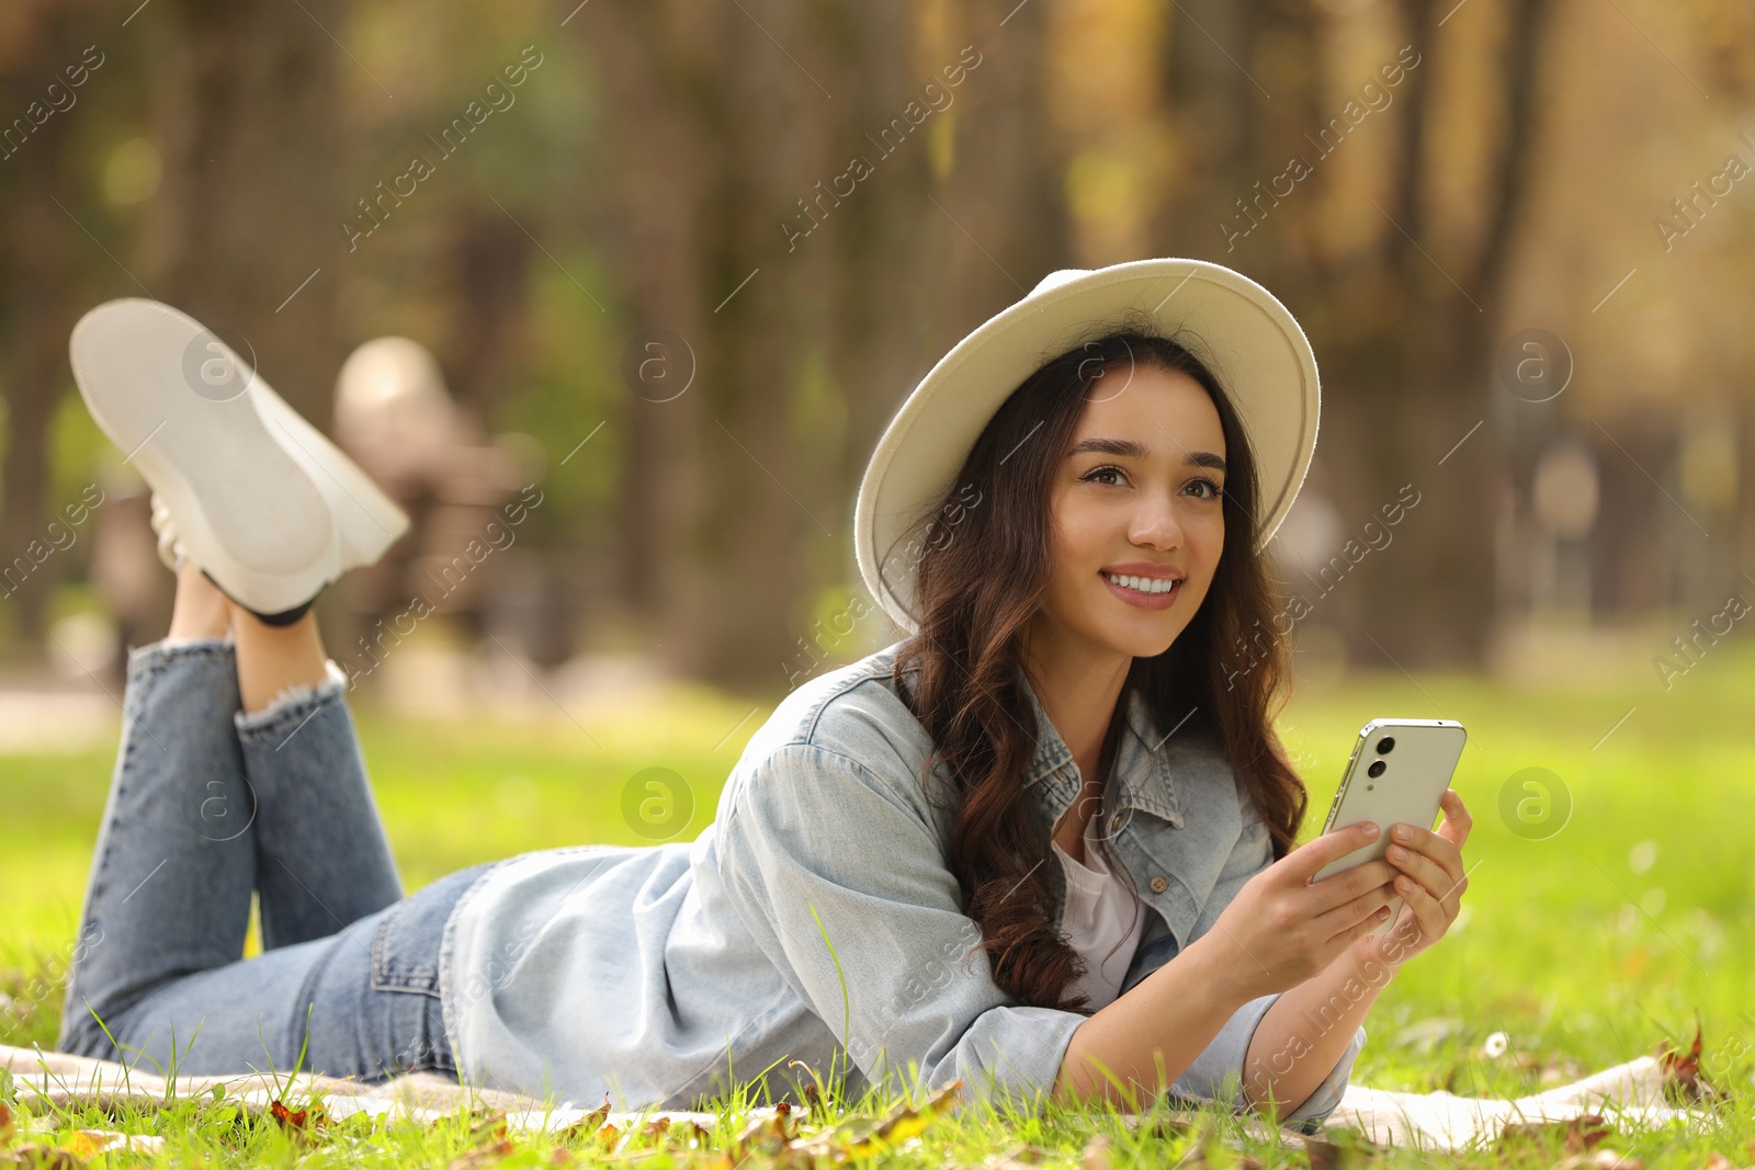
<svg viewBox="0 0 1755 1170">
<path fill-rule="evenodd" d="M 1053 826 L 1041 824 L 1025 798 L 1037 726 L 1020 684 L 1021 635 L 1048 596 L 1055 472 L 1097 379 L 1130 363 L 1186 374 L 1211 396 L 1228 465 L 1225 540 L 1213 586 L 1183 633 L 1128 668 L 1104 758 L 1113 760 L 1120 712 L 1137 689 L 1160 730 L 1181 723 L 1178 735 L 1211 737 L 1272 833 L 1274 858 L 1292 847 L 1307 805 L 1272 726 L 1290 656 L 1286 639 L 1272 633 L 1276 589 L 1255 551 L 1260 489 L 1248 435 L 1190 349 L 1144 321 L 1121 321 L 1027 377 L 981 432 L 953 488 L 962 500 L 976 491 L 976 503 L 939 509 L 927 526 L 914 584 L 920 633 L 893 670 L 899 695 L 932 737 L 923 782 L 944 765 L 948 791 L 932 796 L 951 810 L 948 863 L 993 979 L 1021 1003 L 1064 1010 L 1086 1009 L 1085 996 L 1069 995 L 1083 963 L 1055 923 L 1055 888 L 1041 865 Z M 1239 668 L 1225 651 L 1251 630 L 1250 665 Z M 904 675 L 916 670 L 909 686 Z"/>
</svg>

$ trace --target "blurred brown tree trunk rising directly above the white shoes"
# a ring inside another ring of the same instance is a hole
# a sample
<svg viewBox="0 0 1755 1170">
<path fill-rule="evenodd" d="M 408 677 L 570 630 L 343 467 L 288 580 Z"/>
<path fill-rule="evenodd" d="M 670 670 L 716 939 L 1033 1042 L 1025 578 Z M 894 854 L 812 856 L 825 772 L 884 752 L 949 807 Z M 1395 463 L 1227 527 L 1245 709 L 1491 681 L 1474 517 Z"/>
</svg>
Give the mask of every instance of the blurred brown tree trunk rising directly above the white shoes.
<svg viewBox="0 0 1755 1170">
<path fill-rule="evenodd" d="M 154 70 L 165 186 L 147 284 L 202 325 L 240 335 L 251 351 L 242 356 L 326 430 L 342 356 L 339 223 L 355 214 L 335 165 L 344 151 L 330 37 L 346 33 L 346 9 L 174 0 L 156 26 L 168 30 Z M 377 100 L 376 82 L 367 93 Z"/>
</svg>

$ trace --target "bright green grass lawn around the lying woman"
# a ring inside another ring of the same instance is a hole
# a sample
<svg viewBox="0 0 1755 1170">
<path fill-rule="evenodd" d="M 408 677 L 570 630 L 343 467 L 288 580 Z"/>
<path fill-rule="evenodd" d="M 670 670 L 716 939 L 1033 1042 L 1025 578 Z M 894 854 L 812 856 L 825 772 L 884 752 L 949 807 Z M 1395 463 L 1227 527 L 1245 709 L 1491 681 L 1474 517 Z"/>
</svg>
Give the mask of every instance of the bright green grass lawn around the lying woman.
<svg viewBox="0 0 1755 1170">
<path fill-rule="evenodd" d="M 1736 1095 L 1732 1119 L 1701 1133 L 1622 1133 L 1608 1144 L 1646 1165 L 1699 1166 L 1713 1149 L 1734 1165 L 1755 1161 L 1755 1149 L 1744 1147 L 1755 1140 L 1755 863 L 1748 845 L 1755 654 L 1727 646 L 1708 667 L 1671 691 L 1641 681 L 1590 693 L 1513 691 L 1471 677 L 1381 674 L 1299 693 L 1281 733 L 1316 814 L 1327 809 L 1367 719 L 1444 716 L 1471 733 L 1455 781 L 1476 823 L 1465 849 L 1474 867 L 1465 917 L 1378 1000 L 1355 1084 L 1515 1096 L 1651 1052 L 1664 1040 L 1687 1042 L 1699 1017 L 1708 1077 Z M 1615 726 L 1630 707 L 1632 716 Z M 748 709 L 748 702 L 690 691 L 660 710 L 586 719 L 586 730 L 565 721 L 416 724 L 370 710 L 360 714 L 360 730 L 404 879 L 414 888 L 525 849 L 642 844 L 648 838 L 623 816 L 623 789 L 649 767 L 672 768 L 691 788 L 686 835 L 693 835 L 711 819 L 744 740 L 770 710 L 739 724 Z M 1569 823 L 1544 840 L 1513 833 L 1499 814 L 1501 788 L 1527 767 L 1555 772 L 1572 798 Z M 33 1000 L 30 979 L 44 970 L 53 975 L 56 954 L 74 937 L 109 768 L 107 749 L 0 758 L 0 991 L 14 1000 L 0 1010 L 4 1042 L 53 1038 L 58 989 Z M 1504 1044 L 1488 1045 L 1494 1033 L 1504 1033 Z M 858 1109 L 883 1107 L 865 1102 Z M 100 1124 L 97 1117 L 39 1121 L 63 1130 Z M 346 1140 L 304 1156 L 442 1165 L 467 1147 L 467 1126 L 458 1126 L 456 1133 L 342 1128 Z M 221 1124 L 174 1114 L 137 1117 L 128 1128 L 172 1135 L 183 1152 L 161 1158 L 177 1165 L 300 1158 L 272 1126 L 242 1119 Z M 1042 1151 L 1046 1165 L 1078 1165 L 1097 1131 L 1111 1135 L 1107 1158 L 1116 1166 L 1174 1161 L 1193 1140 L 1148 1138 L 1113 1117 L 1053 1110 L 1034 1119 L 944 1119 L 888 1159 L 978 1165 L 1021 1144 Z M 546 1147 L 544 1140 L 535 1145 Z M 1302 1161 L 1250 1145 L 1274 1165 Z M 579 1158 L 590 1149 L 574 1144 Z M 535 1165 L 539 1152 L 516 1158 Z M 1025 1161 L 1035 1156 L 1025 1151 Z M 663 1166 L 704 1154 L 669 1149 L 653 1158 L 649 1165 Z M 1223 1161 L 1223 1152 L 1213 1158 Z M 1518 1159 L 1501 1151 L 1469 1165 L 1508 1161 Z"/>
</svg>

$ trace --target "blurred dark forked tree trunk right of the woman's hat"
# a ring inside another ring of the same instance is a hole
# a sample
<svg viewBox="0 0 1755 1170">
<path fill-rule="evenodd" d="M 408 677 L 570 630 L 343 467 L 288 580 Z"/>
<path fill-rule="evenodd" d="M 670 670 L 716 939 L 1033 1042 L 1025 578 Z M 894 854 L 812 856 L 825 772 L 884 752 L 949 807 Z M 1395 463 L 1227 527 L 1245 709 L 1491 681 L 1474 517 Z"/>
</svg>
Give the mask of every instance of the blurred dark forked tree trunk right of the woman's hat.
<svg viewBox="0 0 1755 1170">
<path fill-rule="evenodd" d="M 1436 135 L 1429 96 L 1441 72 L 1441 5 L 1415 0 L 1409 40 L 1423 61 L 1408 75 L 1400 158 L 1383 226 L 1386 275 L 1400 295 L 1365 344 L 1343 349 L 1329 468 L 1343 484 L 1348 535 L 1378 517 L 1406 489 L 1420 503 L 1397 526 L 1383 563 L 1360 565 L 1355 621 L 1357 661 L 1393 667 L 1479 667 L 1497 617 L 1494 531 L 1506 486 L 1504 440 L 1492 417 L 1495 337 L 1506 275 L 1525 205 L 1536 146 L 1536 84 L 1548 0 L 1516 0 L 1501 65 L 1506 118 L 1494 165 L 1483 177 L 1485 228 L 1469 249 L 1446 253 L 1429 230 L 1422 149 Z M 1437 256 L 1462 254 L 1441 268 Z M 1332 382 L 1330 382 L 1332 384 Z"/>
</svg>

